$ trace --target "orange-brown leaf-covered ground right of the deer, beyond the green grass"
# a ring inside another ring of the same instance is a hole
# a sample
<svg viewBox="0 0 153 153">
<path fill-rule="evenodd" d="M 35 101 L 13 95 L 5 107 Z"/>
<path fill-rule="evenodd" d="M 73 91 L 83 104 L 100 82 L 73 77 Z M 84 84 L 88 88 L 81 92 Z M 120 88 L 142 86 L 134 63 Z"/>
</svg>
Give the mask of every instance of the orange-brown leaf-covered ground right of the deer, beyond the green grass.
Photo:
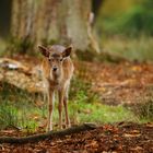
<svg viewBox="0 0 153 153">
<path fill-rule="evenodd" d="M 153 98 L 153 63 L 79 64 L 80 78 L 92 82 L 92 91 L 109 105 L 133 105 Z"/>
</svg>

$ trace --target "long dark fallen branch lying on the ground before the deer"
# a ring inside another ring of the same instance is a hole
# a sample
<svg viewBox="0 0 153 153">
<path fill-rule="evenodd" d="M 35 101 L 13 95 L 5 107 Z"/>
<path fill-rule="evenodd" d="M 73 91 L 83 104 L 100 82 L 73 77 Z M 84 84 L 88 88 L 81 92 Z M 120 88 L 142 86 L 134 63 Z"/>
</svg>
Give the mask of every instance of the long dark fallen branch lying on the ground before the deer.
<svg viewBox="0 0 153 153">
<path fill-rule="evenodd" d="M 93 130 L 96 128 L 94 123 L 83 123 L 82 126 L 72 127 L 69 129 L 60 130 L 60 131 L 49 131 L 46 133 L 34 134 L 28 137 L 0 137 L 0 143 L 28 143 L 28 142 L 37 142 L 45 139 L 52 139 L 56 137 L 63 137 L 72 133 L 79 133 L 86 130 Z"/>
</svg>

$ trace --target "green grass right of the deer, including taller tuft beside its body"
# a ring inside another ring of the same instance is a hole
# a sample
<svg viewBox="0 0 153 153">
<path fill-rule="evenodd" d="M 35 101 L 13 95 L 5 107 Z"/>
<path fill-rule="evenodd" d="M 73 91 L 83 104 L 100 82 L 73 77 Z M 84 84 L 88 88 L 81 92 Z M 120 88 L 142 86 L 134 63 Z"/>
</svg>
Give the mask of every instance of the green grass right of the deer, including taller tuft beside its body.
<svg viewBox="0 0 153 153">
<path fill-rule="evenodd" d="M 108 106 L 102 104 L 99 96 L 90 91 L 91 85 L 80 79 L 72 82 L 70 91 L 69 110 L 71 120 L 76 122 L 117 122 L 138 121 L 138 118 L 123 106 Z"/>
</svg>

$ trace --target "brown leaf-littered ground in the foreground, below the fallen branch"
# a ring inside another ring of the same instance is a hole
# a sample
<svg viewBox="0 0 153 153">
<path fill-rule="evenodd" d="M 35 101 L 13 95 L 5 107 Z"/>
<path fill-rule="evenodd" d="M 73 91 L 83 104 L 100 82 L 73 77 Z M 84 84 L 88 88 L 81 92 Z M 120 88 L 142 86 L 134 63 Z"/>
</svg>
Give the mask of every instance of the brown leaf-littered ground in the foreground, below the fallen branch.
<svg viewBox="0 0 153 153">
<path fill-rule="evenodd" d="M 1 131 L 0 136 L 20 136 Z M 0 144 L 1 153 L 152 153 L 153 123 L 103 125 L 98 128 L 60 138 L 25 144 Z"/>
</svg>

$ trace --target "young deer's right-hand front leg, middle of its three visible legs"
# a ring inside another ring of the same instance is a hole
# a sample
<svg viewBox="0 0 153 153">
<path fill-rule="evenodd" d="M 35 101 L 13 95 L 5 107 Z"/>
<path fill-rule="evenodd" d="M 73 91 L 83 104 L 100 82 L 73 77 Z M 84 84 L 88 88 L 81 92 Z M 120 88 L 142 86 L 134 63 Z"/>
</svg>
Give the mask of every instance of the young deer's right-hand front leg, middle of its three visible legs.
<svg viewBox="0 0 153 153">
<path fill-rule="evenodd" d="M 63 104 L 63 94 L 64 90 L 59 90 L 58 95 L 59 95 L 59 103 L 58 103 L 58 113 L 59 113 L 59 128 L 62 129 L 62 104 Z"/>
</svg>

